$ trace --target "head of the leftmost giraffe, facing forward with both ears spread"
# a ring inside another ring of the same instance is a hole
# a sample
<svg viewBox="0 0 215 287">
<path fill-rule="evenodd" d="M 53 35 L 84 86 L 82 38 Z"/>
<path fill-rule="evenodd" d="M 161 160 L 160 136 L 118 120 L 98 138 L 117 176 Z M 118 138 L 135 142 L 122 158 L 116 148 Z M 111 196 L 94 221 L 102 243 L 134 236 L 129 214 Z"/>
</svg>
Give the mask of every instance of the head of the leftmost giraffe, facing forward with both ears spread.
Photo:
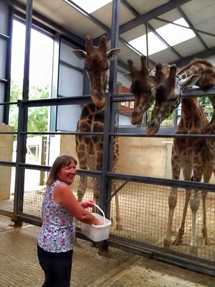
<svg viewBox="0 0 215 287">
<path fill-rule="evenodd" d="M 105 104 L 105 92 L 107 83 L 107 70 L 111 60 L 116 59 L 121 49 L 111 49 L 107 52 L 107 39 L 102 36 L 100 45 L 93 46 L 93 40 L 90 36 L 85 38 L 85 49 L 73 50 L 73 53 L 81 61 L 85 62 L 84 68 L 90 79 L 90 96 L 97 107 L 103 107 Z"/>
</svg>

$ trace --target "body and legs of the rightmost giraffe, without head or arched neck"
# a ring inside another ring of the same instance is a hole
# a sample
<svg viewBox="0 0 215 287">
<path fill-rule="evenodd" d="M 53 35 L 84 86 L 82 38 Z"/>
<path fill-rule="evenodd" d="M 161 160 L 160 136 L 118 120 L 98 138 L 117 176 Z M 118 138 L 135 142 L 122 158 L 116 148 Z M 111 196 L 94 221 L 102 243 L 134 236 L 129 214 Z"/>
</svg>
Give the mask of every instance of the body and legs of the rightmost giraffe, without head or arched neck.
<svg viewBox="0 0 215 287">
<path fill-rule="evenodd" d="M 205 128 L 208 125 L 207 118 L 200 107 L 200 104 L 196 98 L 189 98 L 182 100 L 182 115 L 180 123 L 177 125 L 176 134 L 203 134 Z M 173 140 L 172 157 L 171 157 L 173 179 L 180 178 L 180 171 L 182 170 L 184 180 L 193 180 L 200 182 L 202 175 L 205 182 L 209 182 L 212 175 L 212 168 L 209 164 L 209 158 L 207 153 L 207 146 L 205 139 L 202 138 L 175 138 Z M 197 240 L 196 240 L 196 212 L 200 205 L 200 194 L 196 190 L 188 190 L 185 192 L 185 203 L 182 214 L 182 222 L 179 232 L 173 244 L 178 245 L 182 243 L 182 237 L 184 235 L 185 220 L 187 208 L 190 203 L 192 210 L 192 231 L 191 231 L 191 254 L 197 252 Z M 202 194 L 203 212 L 205 213 L 205 199 L 206 194 Z M 175 206 L 177 204 L 177 188 L 173 187 L 169 195 L 169 219 L 166 238 L 164 239 L 164 245 L 170 246 L 170 232 L 173 224 L 173 214 Z M 209 244 L 207 238 L 207 226 L 206 226 L 206 213 L 203 215 L 202 234 L 205 238 L 205 243 Z"/>
</svg>

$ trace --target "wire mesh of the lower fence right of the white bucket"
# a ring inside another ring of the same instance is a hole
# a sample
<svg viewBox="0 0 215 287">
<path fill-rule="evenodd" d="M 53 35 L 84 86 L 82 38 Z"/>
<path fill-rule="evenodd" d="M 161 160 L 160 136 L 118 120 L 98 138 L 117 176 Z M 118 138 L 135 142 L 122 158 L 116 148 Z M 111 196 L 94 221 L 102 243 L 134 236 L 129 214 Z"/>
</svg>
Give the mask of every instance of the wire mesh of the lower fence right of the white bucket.
<svg viewBox="0 0 215 287">
<path fill-rule="evenodd" d="M 166 238 L 168 228 L 168 196 L 170 190 L 171 187 L 161 185 L 127 183 L 119 192 L 120 216 L 122 219 L 121 230 L 116 230 L 116 204 L 114 198 L 111 201 L 111 221 L 113 223 L 111 234 L 164 247 L 164 238 Z M 200 197 L 200 206 L 196 215 L 196 239 L 198 246 L 196 256 L 212 261 L 214 260 L 215 244 L 215 193 L 208 192 L 206 200 L 207 244 L 205 244 L 205 238 L 202 234 L 203 210 L 201 194 L 199 193 L 198 196 Z M 187 208 L 182 242 L 174 245 L 174 240 L 182 222 L 184 203 L 184 189 L 178 189 L 177 205 L 170 231 L 171 244 L 168 248 L 183 254 L 191 254 L 192 214 L 190 206 Z"/>
</svg>

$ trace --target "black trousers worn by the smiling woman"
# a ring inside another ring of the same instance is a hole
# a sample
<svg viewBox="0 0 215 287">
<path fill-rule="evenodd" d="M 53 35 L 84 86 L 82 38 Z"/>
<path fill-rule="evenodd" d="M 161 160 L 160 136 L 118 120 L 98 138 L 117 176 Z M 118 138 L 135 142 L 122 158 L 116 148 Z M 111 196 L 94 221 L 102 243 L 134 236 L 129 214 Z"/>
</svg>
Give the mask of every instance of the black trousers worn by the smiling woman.
<svg viewBox="0 0 215 287">
<path fill-rule="evenodd" d="M 70 287 L 72 251 L 52 253 L 38 246 L 38 259 L 45 273 L 42 287 Z"/>
</svg>

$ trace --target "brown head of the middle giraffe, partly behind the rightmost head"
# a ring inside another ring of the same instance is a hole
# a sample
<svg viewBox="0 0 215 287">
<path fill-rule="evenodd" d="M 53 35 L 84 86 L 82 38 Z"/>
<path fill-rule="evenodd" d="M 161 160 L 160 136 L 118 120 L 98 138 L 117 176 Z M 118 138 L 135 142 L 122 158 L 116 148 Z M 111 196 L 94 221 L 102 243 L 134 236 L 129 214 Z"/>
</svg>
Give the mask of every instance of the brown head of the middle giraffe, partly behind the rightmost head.
<svg viewBox="0 0 215 287">
<path fill-rule="evenodd" d="M 153 77 L 153 72 L 148 69 L 146 56 L 141 57 L 141 70 L 134 68 L 132 60 L 128 60 L 130 72 L 125 74 L 132 85 L 130 92 L 134 94 L 134 109 L 132 111 L 132 125 L 136 125 L 142 121 L 143 114 L 151 107 L 154 102 L 155 95 L 152 91 L 154 84 L 150 81 L 149 76 Z"/>
</svg>

